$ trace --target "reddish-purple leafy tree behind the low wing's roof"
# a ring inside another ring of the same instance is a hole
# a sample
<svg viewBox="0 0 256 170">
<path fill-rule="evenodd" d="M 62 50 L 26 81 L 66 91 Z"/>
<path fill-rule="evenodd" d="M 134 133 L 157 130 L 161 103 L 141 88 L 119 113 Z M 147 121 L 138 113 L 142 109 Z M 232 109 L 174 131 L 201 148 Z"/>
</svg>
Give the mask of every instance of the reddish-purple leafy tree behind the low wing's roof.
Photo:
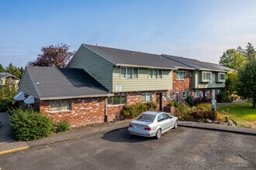
<svg viewBox="0 0 256 170">
<path fill-rule="evenodd" d="M 43 46 L 42 54 L 39 54 L 36 60 L 30 61 L 29 66 L 56 66 L 65 67 L 67 61 L 74 55 L 69 52 L 70 46 L 67 44 L 57 44 L 57 46 Z"/>
</svg>

